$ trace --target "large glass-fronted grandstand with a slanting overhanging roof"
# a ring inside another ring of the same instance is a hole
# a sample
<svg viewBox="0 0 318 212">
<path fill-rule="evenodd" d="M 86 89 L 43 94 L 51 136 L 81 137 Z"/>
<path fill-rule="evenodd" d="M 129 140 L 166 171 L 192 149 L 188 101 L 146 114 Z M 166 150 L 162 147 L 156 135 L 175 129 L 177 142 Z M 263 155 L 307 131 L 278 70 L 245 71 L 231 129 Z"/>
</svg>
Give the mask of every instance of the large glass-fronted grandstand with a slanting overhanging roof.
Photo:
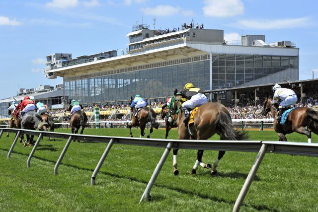
<svg viewBox="0 0 318 212">
<path fill-rule="evenodd" d="M 169 32 L 136 25 L 127 34 L 127 54 L 79 58 L 80 63 L 62 58 L 62 66 L 51 66 L 48 56 L 44 72 L 47 78 L 63 77 L 65 98 L 82 104 L 125 102 L 136 94 L 163 99 L 187 82 L 213 91 L 299 80 L 295 43 L 266 43 L 264 35 L 226 41 L 223 30 L 193 27 L 183 24 Z"/>
</svg>

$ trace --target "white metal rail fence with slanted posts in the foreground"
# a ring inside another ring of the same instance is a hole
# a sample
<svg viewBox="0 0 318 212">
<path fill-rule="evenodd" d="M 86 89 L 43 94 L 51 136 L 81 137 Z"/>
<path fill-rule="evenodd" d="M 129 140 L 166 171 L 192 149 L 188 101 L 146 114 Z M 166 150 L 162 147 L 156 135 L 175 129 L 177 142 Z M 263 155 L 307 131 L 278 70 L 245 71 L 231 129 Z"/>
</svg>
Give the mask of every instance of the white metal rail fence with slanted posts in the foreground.
<svg viewBox="0 0 318 212">
<path fill-rule="evenodd" d="M 140 145 L 140 146 L 153 146 L 153 147 L 165 147 L 163 154 L 157 164 L 150 181 L 142 195 L 142 200 L 150 200 L 150 191 L 159 175 L 159 172 L 171 150 L 171 148 L 177 147 L 180 149 L 204 149 L 204 150 L 221 150 L 221 151 L 242 151 L 242 152 L 258 152 L 254 163 L 249 171 L 249 174 L 245 180 L 245 183 L 239 193 L 238 199 L 235 203 L 234 212 L 238 212 L 239 208 L 247 194 L 247 191 L 254 179 L 254 176 L 258 170 L 258 167 L 265 155 L 265 153 L 279 153 L 279 154 L 292 154 L 292 155 L 306 155 L 306 156 L 318 156 L 318 143 L 305 143 L 305 142 L 284 142 L 284 141 L 191 141 L 191 140 L 160 140 L 160 139 L 140 139 L 140 138 L 127 138 L 127 137 L 106 137 L 106 136 L 90 136 L 90 135 L 75 135 L 67 133 L 51 133 L 32 130 L 10 129 L 0 128 L 0 138 L 3 132 L 17 133 L 7 157 L 9 158 L 19 135 L 29 134 L 38 136 L 38 139 L 27 159 L 26 165 L 30 167 L 31 158 L 39 145 L 42 137 L 54 137 L 61 139 L 68 139 L 63 151 L 60 154 L 54 167 L 54 175 L 58 174 L 58 168 L 61 161 L 68 150 L 72 140 L 88 141 L 88 142 L 101 142 L 108 143 L 104 153 L 100 157 L 96 168 L 94 169 L 90 182 L 91 185 L 95 184 L 95 179 L 98 171 L 103 164 L 108 152 L 110 151 L 114 143 Z"/>
</svg>

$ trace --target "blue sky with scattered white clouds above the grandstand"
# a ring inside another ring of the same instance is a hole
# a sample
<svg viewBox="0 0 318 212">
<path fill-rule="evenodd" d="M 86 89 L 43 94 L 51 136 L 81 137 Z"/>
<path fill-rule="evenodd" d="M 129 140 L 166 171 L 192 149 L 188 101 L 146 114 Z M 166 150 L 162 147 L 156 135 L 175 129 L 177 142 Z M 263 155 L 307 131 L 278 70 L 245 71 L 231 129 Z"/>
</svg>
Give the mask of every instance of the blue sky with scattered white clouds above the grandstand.
<svg viewBox="0 0 318 212">
<path fill-rule="evenodd" d="M 317 8 L 316 0 L 0 0 L 0 99 L 18 88 L 62 84 L 45 78 L 47 55 L 120 55 L 137 21 L 171 29 L 193 20 L 223 29 L 226 40 L 290 40 L 300 49 L 300 80 L 313 71 L 318 78 Z"/>
</svg>

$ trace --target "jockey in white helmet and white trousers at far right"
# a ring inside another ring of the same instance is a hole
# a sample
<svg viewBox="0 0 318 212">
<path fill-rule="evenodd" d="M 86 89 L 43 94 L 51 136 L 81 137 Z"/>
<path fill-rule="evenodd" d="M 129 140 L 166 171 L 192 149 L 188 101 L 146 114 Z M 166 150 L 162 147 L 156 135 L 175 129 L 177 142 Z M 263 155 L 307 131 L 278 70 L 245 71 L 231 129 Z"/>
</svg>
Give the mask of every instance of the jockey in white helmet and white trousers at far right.
<svg viewBox="0 0 318 212">
<path fill-rule="evenodd" d="M 282 88 L 279 84 L 275 84 L 273 87 L 274 97 L 273 104 L 277 103 L 278 100 L 281 100 L 279 103 L 279 114 L 277 116 L 277 120 L 280 120 L 283 115 L 284 108 L 294 106 L 297 102 L 296 93 L 288 88 Z"/>
</svg>

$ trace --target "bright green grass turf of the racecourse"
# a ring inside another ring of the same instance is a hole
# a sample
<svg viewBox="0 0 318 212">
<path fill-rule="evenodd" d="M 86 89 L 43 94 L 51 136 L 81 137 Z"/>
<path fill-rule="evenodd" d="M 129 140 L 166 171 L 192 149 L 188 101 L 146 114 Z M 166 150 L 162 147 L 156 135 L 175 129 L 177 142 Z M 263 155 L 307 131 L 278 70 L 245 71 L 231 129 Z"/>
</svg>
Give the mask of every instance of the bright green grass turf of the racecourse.
<svg viewBox="0 0 318 212">
<path fill-rule="evenodd" d="M 129 130 L 85 129 L 84 133 L 128 136 Z M 133 131 L 136 137 L 139 133 Z M 155 130 L 152 138 L 164 139 L 164 133 Z M 278 139 L 273 131 L 248 133 L 250 140 Z M 177 131 L 171 130 L 169 138 L 176 139 Z M 307 141 L 306 136 L 298 134 L 288 135 L 287 139 Z M 139 205 L 163 148 L 114 144 L 96 177 L 96 185 L 90 186 L 90 176 L 107 143 L 72 142 L 59 175 L 54 176 L 54 165 L 66 140 L 44 138 L 30 168 L 26 160 L 31 148 L 20 143 L 11 158 L 6 158 L 12 141 L 13 134 L 0 139 L 0 211 L 232 211 L 256 157 L 256 153 L 227 152 L 216 177 L 201 167 L 196 175 L 190 175 L 196 150 L 180 149 L 180 174 L 174 176 L 170 152 L 151 191 L 152 201 Z M 316 135 L 313 141 L 318 141 Z M 217 155 L 216 151 L 205 151 L 203 161 L 213 163 Z M 315 157 L 266 154 L 241 211 L 318 211 L 317 162 Z"/>
</svg>

